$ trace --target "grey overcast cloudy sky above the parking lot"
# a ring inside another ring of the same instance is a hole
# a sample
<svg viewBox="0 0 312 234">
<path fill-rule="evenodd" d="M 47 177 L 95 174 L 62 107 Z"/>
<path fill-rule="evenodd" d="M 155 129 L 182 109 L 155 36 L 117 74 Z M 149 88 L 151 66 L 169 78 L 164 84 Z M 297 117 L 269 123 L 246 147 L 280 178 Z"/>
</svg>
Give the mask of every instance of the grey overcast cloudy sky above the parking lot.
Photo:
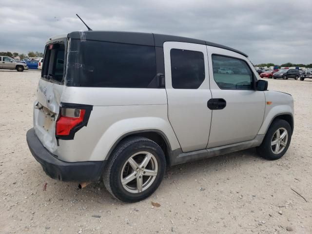
<svg viewBox="0 0 312 234">
<path fill-rule="evenodd" d="M 43 52 L 45 41 L 85 30 L 205 39 L 254 64 L 312 63 L 312 0 L 0 0 L 0 51 Z"/>
</svg>

